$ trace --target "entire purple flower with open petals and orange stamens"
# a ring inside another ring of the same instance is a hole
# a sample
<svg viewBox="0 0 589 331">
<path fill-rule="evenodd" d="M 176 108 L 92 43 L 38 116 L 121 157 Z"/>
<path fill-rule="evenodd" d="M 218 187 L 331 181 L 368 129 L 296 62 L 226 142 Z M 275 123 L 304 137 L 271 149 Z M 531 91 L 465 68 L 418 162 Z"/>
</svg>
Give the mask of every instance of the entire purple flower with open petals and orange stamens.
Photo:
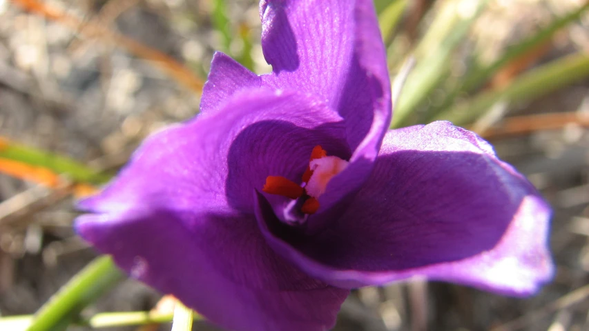
<svg viewBox="0 0 589 331">
<path fill-rule="evenodd" d="M 230 330 L 326 330 L 350 288 L 426 277 L 523 296 L 550 209 L 476 134 L 388 130 L 371 0 L 262 0 L 261 76 L 213 58 L 200 114 L 81 201 L 77 232 Z"/>
</svg>

